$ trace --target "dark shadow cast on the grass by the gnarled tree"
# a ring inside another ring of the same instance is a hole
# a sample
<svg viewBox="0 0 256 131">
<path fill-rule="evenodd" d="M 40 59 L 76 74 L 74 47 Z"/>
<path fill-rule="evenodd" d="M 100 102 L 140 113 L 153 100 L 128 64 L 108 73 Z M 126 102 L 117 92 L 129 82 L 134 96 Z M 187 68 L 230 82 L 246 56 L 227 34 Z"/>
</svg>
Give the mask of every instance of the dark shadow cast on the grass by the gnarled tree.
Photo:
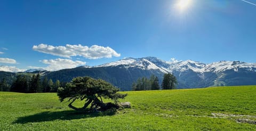
<svg viewBox="0 0 256 131">
<path fill-rule="evenodd" d="M 53 120 L 73 120 L 73 119 L 83 119 L 92 118 L 100 116 L 112 116 L 115 111 L 105 111 L 105 112 L 82 112 L 82 111 L 45 111 L 30 116 L 20 117 L 13 121 L 13 124 L 26 124 L 28 122 L 42 122 L 42 121 L 53 121 Z"/>
</svg>

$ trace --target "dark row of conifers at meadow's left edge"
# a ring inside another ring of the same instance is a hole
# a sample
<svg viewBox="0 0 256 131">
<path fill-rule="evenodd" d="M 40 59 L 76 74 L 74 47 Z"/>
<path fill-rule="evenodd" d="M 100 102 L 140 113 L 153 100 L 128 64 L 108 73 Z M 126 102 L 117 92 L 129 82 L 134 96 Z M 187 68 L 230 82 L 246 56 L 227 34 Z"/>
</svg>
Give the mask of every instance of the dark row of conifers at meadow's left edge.
<svg viewBox="0 0 256 131">
<path fill-rule="evenodd" d="M 57 89 L 66 83 L 61 83 L 56 80 L 53 83 L 52 79 L 47 77 L 41 78 L 40 74 L 32 77 L 26 75 L 17 75 L 13 83 L 7 84 L 6 78 L 0 81 L 0 91 L 20 92 L 20 93 L 43 93 L 57 92 Z"/>
</svg>

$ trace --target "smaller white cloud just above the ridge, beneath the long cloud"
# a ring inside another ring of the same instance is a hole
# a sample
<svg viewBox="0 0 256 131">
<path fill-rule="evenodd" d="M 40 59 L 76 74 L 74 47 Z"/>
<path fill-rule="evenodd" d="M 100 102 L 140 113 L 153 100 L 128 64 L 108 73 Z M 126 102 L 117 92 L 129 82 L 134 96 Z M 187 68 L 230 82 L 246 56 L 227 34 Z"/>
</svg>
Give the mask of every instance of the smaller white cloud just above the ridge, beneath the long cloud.
<svg viewBox="0 0 256 131">
<path fill-rule="evenodd" d="M 55 59 L 55 60 L 42 60 L 40 61 L 44 64 L 49 64 L 45 70 L 49 71 L 55 71 L 55 70 L 61 70 L 61 69 L 68 69 L 68 68 L 75 68 L 81 65 L 84 65 L 86 62 L 83 61 L 72 61 L 69 59 Z"/>
</svg>

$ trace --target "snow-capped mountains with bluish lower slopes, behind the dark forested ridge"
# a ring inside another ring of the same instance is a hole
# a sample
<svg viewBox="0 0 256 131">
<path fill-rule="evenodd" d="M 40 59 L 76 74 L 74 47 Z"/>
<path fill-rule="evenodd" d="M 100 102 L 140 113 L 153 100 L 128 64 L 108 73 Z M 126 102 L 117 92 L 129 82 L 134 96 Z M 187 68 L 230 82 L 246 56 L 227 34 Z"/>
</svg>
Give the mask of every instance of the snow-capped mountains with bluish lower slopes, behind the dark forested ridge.
<svg viewBox="0 0 256 131">
<path fill-rule="evenodd" d="M 126 58 L 102 64 L 97 68 L 121 68 L 120 66 L 126 69 L 139 68 L 158 70 L 162 73 L 171 72 L 177 77 L 179 88 L 256 84 L 256 64 L 241 61 L 219 61 L 205 64 L 192 60 L 170 62 L 155 57 L 146 57 Z"/>
</svg>

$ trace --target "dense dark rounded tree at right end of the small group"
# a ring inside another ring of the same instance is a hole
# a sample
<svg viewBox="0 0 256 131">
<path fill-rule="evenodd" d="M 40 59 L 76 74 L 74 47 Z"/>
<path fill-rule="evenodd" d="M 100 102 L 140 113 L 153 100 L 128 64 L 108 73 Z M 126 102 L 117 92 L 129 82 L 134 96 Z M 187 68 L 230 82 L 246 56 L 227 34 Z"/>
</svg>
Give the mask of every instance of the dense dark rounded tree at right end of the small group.
<svg viewBox="0 0 256 131">
<path fill-rule="evenodd" d="M 174 75 L 171 73 L 165 73 L 162 88 L 163 89 L 175 89 L 175 86 L 178 84 L 178 81 Z"/>
</svg>

